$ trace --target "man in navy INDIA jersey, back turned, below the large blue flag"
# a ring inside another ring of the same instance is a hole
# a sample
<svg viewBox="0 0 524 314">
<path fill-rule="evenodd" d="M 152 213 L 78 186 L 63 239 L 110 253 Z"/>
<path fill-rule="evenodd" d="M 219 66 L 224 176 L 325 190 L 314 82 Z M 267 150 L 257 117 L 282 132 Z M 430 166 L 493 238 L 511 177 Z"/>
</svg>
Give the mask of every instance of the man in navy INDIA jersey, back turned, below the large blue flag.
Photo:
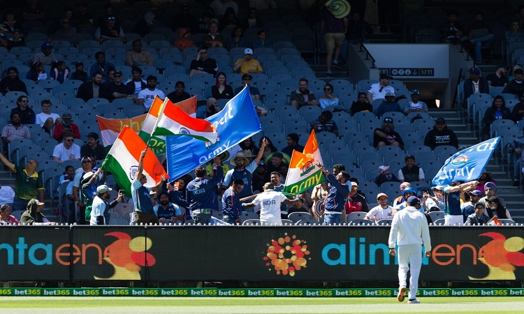
<svg viewBox="0 0 524 314">
<path fill-rule="evenodd" d="M 189 202 L 189 209 L 193 212 L 195 223 L 209 225 L 211 222 L 211 211 L 218 210 L 219 197 L 217 197 L 217 184 L 224 179 L 224 171 L 219 156 L 213 158 L 213 163 L 217 165 L 217 175 L 212 179 L 205 179 L 205 167 L 196 167 L 195 179 L 186 188 L 186 200 Z"/>
</svg>

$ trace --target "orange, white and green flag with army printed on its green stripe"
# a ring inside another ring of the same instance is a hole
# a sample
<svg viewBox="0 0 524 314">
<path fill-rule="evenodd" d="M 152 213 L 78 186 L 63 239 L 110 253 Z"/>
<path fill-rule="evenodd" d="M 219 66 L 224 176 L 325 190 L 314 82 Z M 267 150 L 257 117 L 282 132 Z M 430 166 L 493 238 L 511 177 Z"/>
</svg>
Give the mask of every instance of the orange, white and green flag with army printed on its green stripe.
<svg viewBox="0 0 524 314">
<path fill-rule="evenodd" d="M 290 194 L 303 193 L 305 190 L 326 181 L 316 163 L 323 165 L 314 130 L 305 144 L 304 151 L 293 151 L 289 170 L 284 184 L 284 192 Z"/>
</svg>

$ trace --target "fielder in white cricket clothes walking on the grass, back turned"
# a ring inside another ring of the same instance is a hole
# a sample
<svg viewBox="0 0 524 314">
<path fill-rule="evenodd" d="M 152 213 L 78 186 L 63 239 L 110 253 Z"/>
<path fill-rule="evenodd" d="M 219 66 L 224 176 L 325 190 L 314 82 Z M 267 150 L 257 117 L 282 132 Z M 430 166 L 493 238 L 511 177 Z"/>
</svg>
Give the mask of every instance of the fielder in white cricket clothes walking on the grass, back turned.
<svg viewBox="0 0 524 314">
<path fill-rule="evenodd" d="M 425 248 L 425 257 L 431 255 L 431 239 L 428 220 L 419 211 L 421 201 L 416 196 L 407 199 L 408 206 L 398 211 L 393 216 L 393 223 L 389 232 L 388 247 L 389 254 L 397 255 L 395 241 L 398 245 L 398 301 L 404 301 L 406 294 L 407 271 L 409 278 L 409 304 L 421 303 L 416 299 L 416 291 L 419 289 L 419 274 L 422 266 L 422 244 Z"/>
</svg>

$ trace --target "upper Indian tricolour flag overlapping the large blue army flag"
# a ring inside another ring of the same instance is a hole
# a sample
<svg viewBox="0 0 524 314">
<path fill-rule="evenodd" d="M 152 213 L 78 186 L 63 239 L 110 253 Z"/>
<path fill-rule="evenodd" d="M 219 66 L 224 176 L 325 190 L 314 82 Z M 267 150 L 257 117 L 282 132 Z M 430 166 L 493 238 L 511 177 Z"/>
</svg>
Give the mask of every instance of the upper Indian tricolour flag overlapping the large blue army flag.
<svg viewBox="0 0 524 314">
<path fill-rule="evenodd" d="M 196 100 L 196 98 L 194 98 Z M 205 142 L 217 142 L 218 133 L 210 122 L 196 119 L 185 113 L 180 107 L 175 106 L 168 98 L 157 112 L 150 110 L 151 116 L 157 116 L 157 126 L 153 135 L 188 135 Z"/>
</svg>

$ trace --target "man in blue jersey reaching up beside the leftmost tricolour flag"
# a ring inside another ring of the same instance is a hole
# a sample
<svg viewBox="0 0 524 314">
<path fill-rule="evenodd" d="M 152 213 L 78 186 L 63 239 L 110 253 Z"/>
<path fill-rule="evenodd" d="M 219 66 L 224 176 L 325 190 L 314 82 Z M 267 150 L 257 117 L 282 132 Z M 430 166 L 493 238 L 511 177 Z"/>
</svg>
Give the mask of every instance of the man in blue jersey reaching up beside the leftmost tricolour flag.
<svg viewBox="0 0 524 314">
<path fill-rule="evenodd" d="M 136 224 L 141 223 L 159 223 L 159 218 L 154 214 L 153 202 L 151 200 L 150 191 L 152 188 L 147 188 L 144 184 L 147 182 L 147 177 L 143 174 L 144 171 L 144 157 L 147 148 L 140 153 L 140 160 L 138 160 L 138 172 L 135 174 L 135 179 L 131 182 L 131 197 L 135 204 Z M 158 188 L 166 181 L 166 176 L 162 175 L 159 183 L 154 188 Z"/>
</svg>

